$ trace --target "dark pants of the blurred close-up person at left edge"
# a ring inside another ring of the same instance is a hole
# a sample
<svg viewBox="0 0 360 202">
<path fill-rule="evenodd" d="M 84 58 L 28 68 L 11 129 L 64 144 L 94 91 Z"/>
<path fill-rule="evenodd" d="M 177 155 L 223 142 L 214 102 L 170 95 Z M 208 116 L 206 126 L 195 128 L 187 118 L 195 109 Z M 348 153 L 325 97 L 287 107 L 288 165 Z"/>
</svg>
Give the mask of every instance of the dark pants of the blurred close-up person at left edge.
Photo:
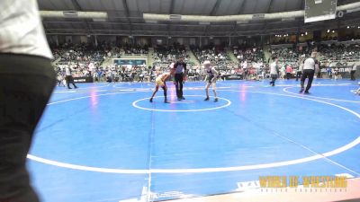
<svg viewBox="0 0 360 202">
<path fill-rule="evenodd" d="M 56 84 L 50 60 L 0 54 L 0 201 L 37 202 L 25 162 Z"/>
</svg>

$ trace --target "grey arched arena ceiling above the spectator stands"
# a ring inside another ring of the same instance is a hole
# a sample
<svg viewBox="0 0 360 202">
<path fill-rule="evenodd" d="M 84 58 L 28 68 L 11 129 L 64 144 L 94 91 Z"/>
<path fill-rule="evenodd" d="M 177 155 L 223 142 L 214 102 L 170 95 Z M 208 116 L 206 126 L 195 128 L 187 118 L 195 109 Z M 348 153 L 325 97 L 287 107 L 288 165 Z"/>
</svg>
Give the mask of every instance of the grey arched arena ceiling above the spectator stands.
<svg viewBox="0 0 360 202">
<path fill-rule="evenodd" d="M 338 5 L 358 0 L 338 0 Z M 38 0 L 41 11 L 106 12 L 108 19 L 44 18 L 48 34 L 97 34 L 133 36 L 243 36 L 337 29 L 360 22 L 360 12 L 335 21 L 304 24 L 303 18 L 273 22 L 146 22 L 142 13 L 233 15 L 303 10 L 304 0 Z"/>
</svg>

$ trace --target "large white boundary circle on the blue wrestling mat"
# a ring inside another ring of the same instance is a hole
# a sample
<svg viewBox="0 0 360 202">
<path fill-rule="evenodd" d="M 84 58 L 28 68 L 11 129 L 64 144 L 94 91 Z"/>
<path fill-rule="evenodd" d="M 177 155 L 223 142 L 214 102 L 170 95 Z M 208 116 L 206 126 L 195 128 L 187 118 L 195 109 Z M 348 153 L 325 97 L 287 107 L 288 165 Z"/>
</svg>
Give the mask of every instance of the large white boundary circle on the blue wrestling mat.
<svg viewBox="0 0 360 202">
<path fill-rule="evenodd" d="M 234 91 L 234 90 L 221 90 L 221 91 L 247 92 L 247 91 Z M 117 92 L 117 93 L 121 93 L 121 92 Z M 108 93 L 108 94 L 117 94 L 117 93 Z M 360 119 L 360 114 L 356 113 L 355 111 L 349 110 L 345 107 L 342 107 L 342 106 L 339 106 L 337 104 L 333 104 L 333 103 L 330 103 L 327 101 L 318 101 L 318 100 L 314 100 L 311 98 L 293 96 L 293 95 L 288 95 L 288 94 L 280 94 L 280 93 L 274 93 L 274 92 L 255 92 L 255 93 L 273 94 L 273 95 L 279 95 L 279 96 L 284 96 L 284 97 L 299 98 L 299 99 L 309 100 L 309 101 L 317 101 L 320 103 L 325 103 L 325 104 L 328 104 L 328 105 L 331 105 L 334 107 L 338 107 L 339 109 L 342 109 L 342 110 L 347 110 L 351 114 L 355 115 L 358 119 Z M 107 95 L 107 94 L 103 94 L 103 95 Z M 87 97 L 91 97 L 91 96 L 86 96 L 86 97 L 79 98 L 79 99 L 84 99 Z M 72 100 L 74 100 L 74 99 L 70 99 L 67 101 L 72 101 Z M 78 100 L 78 99 L 75 99 L 75 100 Z M 60 102 L 65 102 L 65 101 L 60 101 Z M 322 159 L 324 157 L 329 157 L 329 156 L 343 153 L 359 144 L 360 144 L 360 136 L 358 136 L 355 140 L 353 140 L 349 144 L 343 145 L 335 150 L 332 150 L 332 151 L 329 151 L 329 152 L 323 153 L 323 154 L 316 154 L 316 155 L 301 158 L 301 159 L 295 159 L 295 160 L 284 161 L 284 162 L 270 162 L 270 163 L 255 164 L 255 165 L 235 166 L 235 167 L 199 168 L 199 169 L 150 169 L 150 170 L 109 169 L 109 168 L 99 168 L 99 167 L 76 165 L 76 164 L 70 164 L 70 163 L 66 163 L 66 162 L 57 162 L 57 161 L 52 161 L 52 160 L 45 159 L 45 158 L 40 158 L 40 157 L 32 155 L 32 154 L 28 154 L 27 158 L 29 158 L 33 161 L 36 161 L 36 162 L 42 162 L 42 163 L 49 164 L 49 165 L 54 165 L 54 166 L 58 166 L 58 167 L 62 167 L 62 168 L 74 169 L 74 170 L 79 170 L 79 171 L 97 171 L 97 172 L 121 173 L 121 174 L 203 173 L 203 172 L 220 172 L 220 171 L 248 171 L 248 170 L 256 170 L 256 169 L 275 168 L 275 167 L 299 164 L 299 163 L 303 163 L 303 162 L 311 162 L 311 161 Z"/>
</svg>

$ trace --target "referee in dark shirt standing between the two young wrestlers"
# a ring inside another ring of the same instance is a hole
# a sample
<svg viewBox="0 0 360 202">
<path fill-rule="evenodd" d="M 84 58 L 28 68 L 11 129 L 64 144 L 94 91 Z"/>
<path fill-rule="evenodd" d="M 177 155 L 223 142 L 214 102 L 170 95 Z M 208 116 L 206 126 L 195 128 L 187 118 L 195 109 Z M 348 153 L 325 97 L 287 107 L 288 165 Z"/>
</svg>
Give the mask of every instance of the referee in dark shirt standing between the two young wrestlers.
<svg viewBox="0 0 360 202">
<path fill-rule="evenodd" d="M 183 83 L 184 78 L 186 77 L 186 63 L 184 63 L 184 57 L 179 57 L 177 62 L 174 65 L 175 68 L 175 87 L 176 87 L 176 96 L 177 101 L 185 100 L 183 94 Z"/>
</svg>

